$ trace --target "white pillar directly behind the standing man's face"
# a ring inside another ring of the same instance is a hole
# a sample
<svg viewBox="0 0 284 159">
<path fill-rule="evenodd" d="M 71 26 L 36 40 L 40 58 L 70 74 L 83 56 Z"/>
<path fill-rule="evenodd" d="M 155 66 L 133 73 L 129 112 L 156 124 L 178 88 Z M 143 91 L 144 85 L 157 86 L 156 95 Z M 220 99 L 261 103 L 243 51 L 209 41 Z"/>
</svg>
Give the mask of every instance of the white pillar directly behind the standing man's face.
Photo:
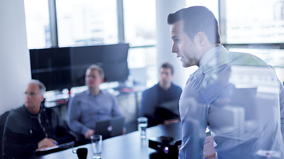
<svg viewBox="0 0 284 159">
<path fill-rule="evenodd" d="M 185 82 L 190 77 L 189 69 L 182 67 L 182 63 L 172 53 L 173 41 L 170 38 L 170 26 L 167 18 L 169 13 L 175 13 L 179 9 L 185 8 L 185 0 L 156 0 L 156 28 L 157 28 L 157 65 L 160 67 L 164 62 L 170 62 L 174 69 L 173 82 L 180 87 L 185 86 Z"/>
</svg>

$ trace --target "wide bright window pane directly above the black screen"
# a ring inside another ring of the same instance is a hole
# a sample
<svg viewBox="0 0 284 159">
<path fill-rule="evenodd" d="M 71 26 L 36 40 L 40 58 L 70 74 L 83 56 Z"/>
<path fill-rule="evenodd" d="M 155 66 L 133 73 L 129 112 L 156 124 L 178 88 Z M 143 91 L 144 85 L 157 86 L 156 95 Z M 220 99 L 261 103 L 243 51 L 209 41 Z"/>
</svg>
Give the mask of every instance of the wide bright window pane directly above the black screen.
<svg viewBox="0 0 284 159">
<path fill-rule="evenodd" d="M 60 46 L 118 43 L 116 0 L 58 0 Z"/>
</svg>

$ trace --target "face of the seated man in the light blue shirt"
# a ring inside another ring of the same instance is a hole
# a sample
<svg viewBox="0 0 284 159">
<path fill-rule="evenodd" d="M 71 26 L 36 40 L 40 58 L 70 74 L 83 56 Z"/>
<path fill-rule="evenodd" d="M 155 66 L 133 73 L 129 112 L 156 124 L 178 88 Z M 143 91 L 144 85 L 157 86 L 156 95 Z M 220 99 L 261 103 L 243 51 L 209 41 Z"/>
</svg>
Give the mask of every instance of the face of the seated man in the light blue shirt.
<svg viewBox="0 0 284 159">
<path fill-rule="evenodd" d="M 85 78 L 86 85 L 90 88 L 98 88 L 104 79 L 99 75 L 98 70 L 88 70 Z"/>
</svg>

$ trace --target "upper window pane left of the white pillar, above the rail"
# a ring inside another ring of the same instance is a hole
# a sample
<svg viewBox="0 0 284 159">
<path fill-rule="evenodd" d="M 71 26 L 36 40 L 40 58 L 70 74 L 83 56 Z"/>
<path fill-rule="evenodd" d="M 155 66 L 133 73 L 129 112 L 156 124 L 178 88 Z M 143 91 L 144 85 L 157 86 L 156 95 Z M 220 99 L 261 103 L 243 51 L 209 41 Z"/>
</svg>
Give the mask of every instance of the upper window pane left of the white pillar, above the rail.
<svg viewBox="0 0 284 159">
<path fill-rule="evenodd" d="M 124 28 L 131 46 L 155 45 L 155 1 L 124 0 Z"/>
</svg>

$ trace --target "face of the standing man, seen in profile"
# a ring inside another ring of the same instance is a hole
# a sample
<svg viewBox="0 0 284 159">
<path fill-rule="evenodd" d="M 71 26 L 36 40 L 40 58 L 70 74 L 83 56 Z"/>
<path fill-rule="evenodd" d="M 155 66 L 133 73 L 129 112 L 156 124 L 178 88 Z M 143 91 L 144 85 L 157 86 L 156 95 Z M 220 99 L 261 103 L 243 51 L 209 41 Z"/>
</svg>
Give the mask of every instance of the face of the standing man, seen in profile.
<svg viewBox="0 0 284 159">
<path fill-rule="evenodd" d="M 173 40 L 172 52 L 177 54 L 182 62 L 182 67 L 198 65 L 200 58 L 200 47 L 195 36 L 193 42 L 183 31 L 183 21 L 178 21 L 170 25 L 170 36 Z"/>
</svg>

